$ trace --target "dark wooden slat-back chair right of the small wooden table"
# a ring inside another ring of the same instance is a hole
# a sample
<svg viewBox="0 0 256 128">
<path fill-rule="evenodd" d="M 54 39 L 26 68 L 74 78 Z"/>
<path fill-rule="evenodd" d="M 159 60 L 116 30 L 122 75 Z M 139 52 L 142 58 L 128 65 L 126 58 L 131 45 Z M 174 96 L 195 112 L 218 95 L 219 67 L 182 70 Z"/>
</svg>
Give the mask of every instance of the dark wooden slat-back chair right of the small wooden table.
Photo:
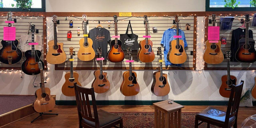
<svg viewBox="0 0 256 128">
<path fill-rule="evenodd" d="M 243 85 L 244 81 L 241 81 L 239 85 L 232 85 L 226 112 L 213 107 L 208 107 L 198 113 L 196 115 L 195 128 L 198 128 L 198 125 L 203 122 L 207 123 L 207 128 L 210 128 L 210 124 L 221 128 L 230 128 L 231 126 L 237 128 L 237 114 Z"/>
</svg>

